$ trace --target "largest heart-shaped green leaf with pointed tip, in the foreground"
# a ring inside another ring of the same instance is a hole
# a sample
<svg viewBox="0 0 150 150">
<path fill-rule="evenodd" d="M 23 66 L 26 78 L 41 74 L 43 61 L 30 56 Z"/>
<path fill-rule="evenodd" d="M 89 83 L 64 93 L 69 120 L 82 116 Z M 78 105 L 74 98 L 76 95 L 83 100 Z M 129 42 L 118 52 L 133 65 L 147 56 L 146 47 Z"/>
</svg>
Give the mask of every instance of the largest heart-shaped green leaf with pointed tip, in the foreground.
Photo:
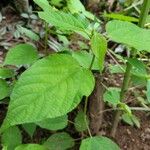
<svg viewBox="0 0 150 150">
<path fill-rule="evenodd" d="M 94 77 L 68 54 L 34 63 L 15 84 L 3 130 L 16 124 L 56 118 L 72 111 L 94 88 Z"/>
</svg>

